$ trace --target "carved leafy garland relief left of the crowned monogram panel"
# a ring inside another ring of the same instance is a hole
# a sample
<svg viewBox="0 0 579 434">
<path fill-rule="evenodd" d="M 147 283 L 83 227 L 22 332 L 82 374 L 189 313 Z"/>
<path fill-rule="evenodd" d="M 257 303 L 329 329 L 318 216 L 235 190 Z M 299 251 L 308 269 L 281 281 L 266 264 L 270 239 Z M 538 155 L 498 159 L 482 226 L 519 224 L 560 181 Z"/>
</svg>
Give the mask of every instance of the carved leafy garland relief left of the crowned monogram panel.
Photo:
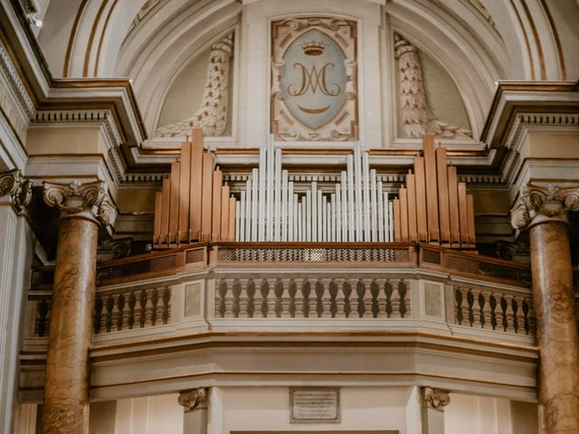
<svg viewBox="0 0 579 434">
<path fill-rule="evenodd" d="M 222 136 L 229 115 L 229 70 L 233 57 L 233 33 L 211 46 L 207 80 L 201 107 L 185 120 L 157 128 L 158 137 L 187 137 L 193 128 L 203 128 L 205 136 Z"/>
</svg>

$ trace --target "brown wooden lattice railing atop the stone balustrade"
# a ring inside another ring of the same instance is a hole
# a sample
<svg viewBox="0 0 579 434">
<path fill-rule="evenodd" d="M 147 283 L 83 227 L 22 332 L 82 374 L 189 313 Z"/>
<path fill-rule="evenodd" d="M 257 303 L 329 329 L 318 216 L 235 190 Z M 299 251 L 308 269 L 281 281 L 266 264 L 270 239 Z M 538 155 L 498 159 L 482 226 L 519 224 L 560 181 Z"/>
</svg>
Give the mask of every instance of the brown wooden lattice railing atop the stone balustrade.
<svg viewBox="0 0 579 434">
<path fill-rule="evenodd" d="M 409 243 L 200 243 L 99 264 L 97 286 L 164 277 L 184 269 L 255 266 L 291 268 L 437 269 L 528 288 L 530 269 L 517 262 L 479 256 L 431 244 Z M 32 269 L 31 288 L 51 288 L 52 267 Z"/>
</svg>

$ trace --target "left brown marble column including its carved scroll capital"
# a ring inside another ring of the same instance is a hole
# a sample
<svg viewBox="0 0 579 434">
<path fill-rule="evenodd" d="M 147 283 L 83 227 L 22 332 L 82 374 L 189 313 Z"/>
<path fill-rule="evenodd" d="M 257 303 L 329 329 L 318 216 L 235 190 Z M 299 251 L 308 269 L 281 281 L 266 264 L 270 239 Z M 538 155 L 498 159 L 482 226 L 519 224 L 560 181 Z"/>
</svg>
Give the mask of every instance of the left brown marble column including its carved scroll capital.
<svg viewBox="0 0 579 434">
<path fill-rule="evenodd" d="M 102 181 L 44 183 L 61 211 L 44 380 L 43 433 L 89 431 L 89 346 L 101 223 L 114 220 Z"/>
</svg>

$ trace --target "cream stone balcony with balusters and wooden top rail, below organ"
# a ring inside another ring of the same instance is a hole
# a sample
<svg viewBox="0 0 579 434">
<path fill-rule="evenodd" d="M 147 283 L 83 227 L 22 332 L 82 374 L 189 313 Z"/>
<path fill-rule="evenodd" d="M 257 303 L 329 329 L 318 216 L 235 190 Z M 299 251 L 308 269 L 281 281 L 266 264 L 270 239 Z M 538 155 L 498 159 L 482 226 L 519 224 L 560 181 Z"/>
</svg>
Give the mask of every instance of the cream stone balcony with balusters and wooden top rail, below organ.
<svg viewBox="0 0 579 434">
<path fill-rule="evenodd" d="M 52 273 L 32 272 L 24 400 L 42 396 Z M 97 400 L 241 373 L 536 393 L 530 270 L 514 262 L 430 244 L 221 242 L 101 263 L 97 280 Z"/>
</svg>

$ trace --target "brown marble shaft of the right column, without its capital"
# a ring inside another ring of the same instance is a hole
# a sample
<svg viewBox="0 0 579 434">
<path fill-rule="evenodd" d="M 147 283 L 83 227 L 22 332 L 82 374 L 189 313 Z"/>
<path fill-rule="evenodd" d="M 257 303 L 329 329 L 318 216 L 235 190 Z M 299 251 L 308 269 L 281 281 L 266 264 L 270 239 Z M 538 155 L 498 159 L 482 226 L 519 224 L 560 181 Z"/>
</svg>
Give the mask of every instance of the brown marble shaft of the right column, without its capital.
<svg viewBox="0 0 579 434">
<path fill-rule="evenodd" d="M 540 350 L 541 431 L 579 432 L 579 343 L 565 222 L 547 221 L 529 231 L 533 297 Z"/>
</svg>

